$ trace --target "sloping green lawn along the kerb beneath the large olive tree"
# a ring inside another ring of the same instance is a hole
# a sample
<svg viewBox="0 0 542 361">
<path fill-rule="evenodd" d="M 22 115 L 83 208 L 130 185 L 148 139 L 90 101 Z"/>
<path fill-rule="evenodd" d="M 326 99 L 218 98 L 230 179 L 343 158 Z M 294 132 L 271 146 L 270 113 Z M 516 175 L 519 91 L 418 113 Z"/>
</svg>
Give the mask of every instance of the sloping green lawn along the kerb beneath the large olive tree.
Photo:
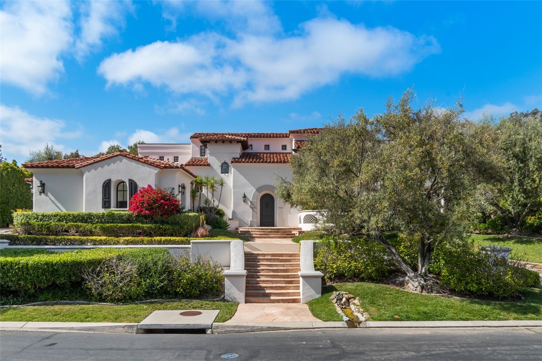
<svg viewBox="0 0 542 361">
<path fill-rule="evenodd" d="M 308 303 L 314 317 L 322 321 L 342 320 L 329 299 L 333 291 L 359 297 L 371 321 L 542 320 L 540 288 L 524 291 L 524 300 L 505 302 L 418 294 L 364 282 L 325 287 L 321 297 Z"/>
</svg>

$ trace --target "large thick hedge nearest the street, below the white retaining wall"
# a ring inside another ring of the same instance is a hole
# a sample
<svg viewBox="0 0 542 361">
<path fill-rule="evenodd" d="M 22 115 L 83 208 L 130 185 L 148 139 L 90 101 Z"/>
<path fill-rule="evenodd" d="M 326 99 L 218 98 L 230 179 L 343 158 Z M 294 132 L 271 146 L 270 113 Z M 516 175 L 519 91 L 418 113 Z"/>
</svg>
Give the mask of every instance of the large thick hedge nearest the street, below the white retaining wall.
<svg viewBox="0 0 542 361">
<path fill-rule="evenodd" d="M 173 257 L 165 248 L 73 252 L 0 251 L 3 303 L 40 300 L 51 292 L 88 300 L 129 301 L 220 294 L 220 265 Z"/>
</svg>

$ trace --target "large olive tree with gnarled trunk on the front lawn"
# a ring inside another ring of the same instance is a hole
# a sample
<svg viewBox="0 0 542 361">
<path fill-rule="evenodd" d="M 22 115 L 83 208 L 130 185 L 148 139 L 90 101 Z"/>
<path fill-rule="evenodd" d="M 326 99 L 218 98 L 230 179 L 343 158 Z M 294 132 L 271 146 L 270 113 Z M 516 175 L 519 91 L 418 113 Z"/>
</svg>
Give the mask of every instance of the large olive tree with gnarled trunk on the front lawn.
<svg viewBox="0 0 542 361">
<path fill-rule="evenodd" d="M 372 235 L 406 273 L 412 291 L 431 292 L 431 255 L 461 239 L 465 202 L 493 165 L 461 104 L 411 107 L 408 90 L 384 114 L 363 109 L 328 124 L 292 157 L 292 180 L 278 179 L 278 195 L 293 206 L 325 209 L 337 233 Z M 384 237 L 394 230 L 415 239 L 417 268 Z"/>
</svg>

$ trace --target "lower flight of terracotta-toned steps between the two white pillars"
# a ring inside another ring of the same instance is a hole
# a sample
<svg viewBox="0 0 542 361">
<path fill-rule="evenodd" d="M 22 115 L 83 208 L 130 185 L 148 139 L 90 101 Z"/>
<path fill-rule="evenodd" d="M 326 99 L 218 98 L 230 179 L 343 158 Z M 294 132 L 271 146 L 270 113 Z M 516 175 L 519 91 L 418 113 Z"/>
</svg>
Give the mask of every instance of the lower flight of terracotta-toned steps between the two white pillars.
<svg viewBox="0 0 542 361">
<path fill-rule="evenodd" d="M 301 303 L 299 253 L 245 252 L 247 303 Z"/>
</svg>

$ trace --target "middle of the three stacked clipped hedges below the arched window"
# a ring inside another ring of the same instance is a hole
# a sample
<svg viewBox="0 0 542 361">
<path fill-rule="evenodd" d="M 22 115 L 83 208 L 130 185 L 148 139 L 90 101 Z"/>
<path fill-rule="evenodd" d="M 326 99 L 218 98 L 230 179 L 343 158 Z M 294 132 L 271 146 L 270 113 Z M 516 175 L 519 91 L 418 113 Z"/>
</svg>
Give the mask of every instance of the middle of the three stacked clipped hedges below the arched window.
<svg viewBox="0 0 542 361">
<path fill-rule="evenodd" d="M 80 235 L 102 237 L 183 237 L 191 232 L 188 225 L 86 224 L 63 222 L 17 222 L 13 231 L 29 235 Z"/>
</svg>

